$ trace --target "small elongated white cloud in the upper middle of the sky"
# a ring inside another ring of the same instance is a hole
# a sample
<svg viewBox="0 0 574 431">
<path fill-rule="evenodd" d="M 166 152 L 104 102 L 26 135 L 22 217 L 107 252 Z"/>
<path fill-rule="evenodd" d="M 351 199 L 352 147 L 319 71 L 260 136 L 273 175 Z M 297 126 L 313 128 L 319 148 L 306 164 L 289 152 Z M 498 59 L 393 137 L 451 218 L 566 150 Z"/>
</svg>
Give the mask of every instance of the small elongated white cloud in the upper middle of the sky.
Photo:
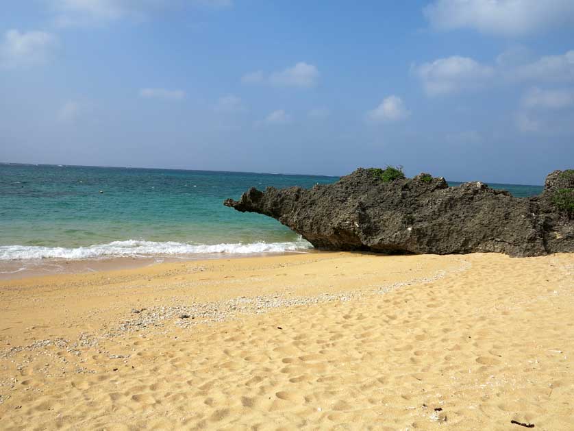
<svg viewBox="0 0 574 431">
<path fill-rule="evenodd" d="M 262 71 L 243 75 L 243 84 L 271 84 L 285 87 L 312 87 L 319 79 L 319 70 L 313 64 L 299 62 L 283 71 L 277 71 L 267 76 Z"/>
</svg>

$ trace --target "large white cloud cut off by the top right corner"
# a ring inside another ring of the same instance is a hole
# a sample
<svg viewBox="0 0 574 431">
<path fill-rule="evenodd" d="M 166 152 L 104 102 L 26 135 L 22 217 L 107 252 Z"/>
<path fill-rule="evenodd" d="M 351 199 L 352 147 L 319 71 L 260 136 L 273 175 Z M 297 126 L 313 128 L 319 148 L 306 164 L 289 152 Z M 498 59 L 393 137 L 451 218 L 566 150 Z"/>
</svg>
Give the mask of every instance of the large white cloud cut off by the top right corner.
<svg viewBox="0 0 574 431">
<path fill-rule="evenodd" d="M 523 36 L 574 24 L 572 0 L 436 0 L 423 8 L 432 27 Z"/>
</svg>

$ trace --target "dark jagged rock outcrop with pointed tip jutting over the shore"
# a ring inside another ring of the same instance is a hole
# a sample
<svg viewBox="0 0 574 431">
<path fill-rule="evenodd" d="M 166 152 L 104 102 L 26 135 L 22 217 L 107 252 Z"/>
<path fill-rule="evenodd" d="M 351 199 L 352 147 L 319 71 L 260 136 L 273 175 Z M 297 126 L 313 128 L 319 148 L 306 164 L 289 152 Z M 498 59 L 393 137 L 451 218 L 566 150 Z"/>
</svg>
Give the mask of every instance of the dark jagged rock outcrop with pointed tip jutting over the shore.
<svg viewBox="0 0 574 431">
<path fill-rule="evenodd" d="M 566 173 L 548 175 L 541 195 L 516 198 L 481 182 L 449 187 L 425 173 L 382 182 L 359 168 L 310 190 L 250 188 L 224 205 L 273 217 L 319 249 L 541 256 L 574 251 L 573 214 L 554 200 L 558 190 L 574 189 Z"/>
</svg>

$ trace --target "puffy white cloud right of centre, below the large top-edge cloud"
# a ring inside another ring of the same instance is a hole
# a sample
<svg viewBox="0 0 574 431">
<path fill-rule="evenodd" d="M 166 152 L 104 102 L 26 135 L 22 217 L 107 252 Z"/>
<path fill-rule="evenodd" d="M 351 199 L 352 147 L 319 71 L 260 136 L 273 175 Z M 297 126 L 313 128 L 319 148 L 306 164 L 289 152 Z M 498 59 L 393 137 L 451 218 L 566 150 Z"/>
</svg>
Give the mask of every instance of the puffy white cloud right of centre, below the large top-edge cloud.
<svg viewBox="0 0 574 431">
<path fill-rule="evenodd" d="M 460 56 L 439 58 L 432 63 L 413 66 L 412 71 L 421 79 L 429 96 L 479 88 L 495 75 L 495 70 L 491 66 Z"/>
</svg>

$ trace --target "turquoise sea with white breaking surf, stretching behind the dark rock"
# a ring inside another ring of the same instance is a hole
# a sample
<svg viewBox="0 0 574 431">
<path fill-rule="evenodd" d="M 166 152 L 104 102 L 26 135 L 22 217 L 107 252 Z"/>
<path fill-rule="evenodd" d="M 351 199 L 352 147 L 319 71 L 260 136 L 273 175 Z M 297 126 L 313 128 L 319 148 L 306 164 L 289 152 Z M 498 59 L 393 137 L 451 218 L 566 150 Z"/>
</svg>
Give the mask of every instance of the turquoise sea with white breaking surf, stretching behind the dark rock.
<svg viewBox="0 0 574 431">
<path fill-rule="evenodd" d="M 338 177 L 0 164 L 0 260 L 251 253 L 309 247 L 260 214 L 223 206 L 249 187 Z M 510 186 L 516 196 L 539 186 Z M 100 190 L 103 193 L 99 193 Z"/>
</svg>

